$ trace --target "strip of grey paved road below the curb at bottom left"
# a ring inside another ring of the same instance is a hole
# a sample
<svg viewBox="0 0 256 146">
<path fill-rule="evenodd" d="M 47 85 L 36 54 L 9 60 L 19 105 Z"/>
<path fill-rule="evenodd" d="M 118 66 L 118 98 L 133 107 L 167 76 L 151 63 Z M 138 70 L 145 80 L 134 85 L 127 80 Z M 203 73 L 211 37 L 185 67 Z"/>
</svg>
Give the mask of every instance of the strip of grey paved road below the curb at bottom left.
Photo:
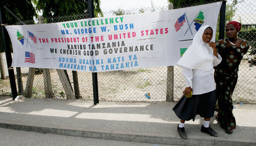
<svg viewBox="0 0 256 146">
<path fill-rule="evenodd" d="M 0 146 L 173 146 L 70 137 L 0 128 Z"/>
</svg>

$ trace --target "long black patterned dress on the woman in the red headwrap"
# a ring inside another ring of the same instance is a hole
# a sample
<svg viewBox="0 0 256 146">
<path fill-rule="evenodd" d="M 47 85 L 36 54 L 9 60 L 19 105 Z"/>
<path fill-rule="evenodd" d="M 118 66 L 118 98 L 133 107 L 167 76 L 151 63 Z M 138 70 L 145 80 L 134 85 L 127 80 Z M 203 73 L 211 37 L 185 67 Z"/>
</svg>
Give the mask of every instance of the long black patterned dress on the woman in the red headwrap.
<svg viewBox="0 0 256 146">
<path fill-rule="evenodd" d="M 218 121 L 223 129 L 232 130 L 236 129 L 236 119 L 232 113 L 232 94 L 237 84 L 239 64 L 247 53 L 249 45 L 246 40 L 242 40 L 240 47 L 234 47 L 223 39 L 216 42 L 216 48 L 222 57 L 222 62 L 214 68 L 219 105 Z"/>
</svg>

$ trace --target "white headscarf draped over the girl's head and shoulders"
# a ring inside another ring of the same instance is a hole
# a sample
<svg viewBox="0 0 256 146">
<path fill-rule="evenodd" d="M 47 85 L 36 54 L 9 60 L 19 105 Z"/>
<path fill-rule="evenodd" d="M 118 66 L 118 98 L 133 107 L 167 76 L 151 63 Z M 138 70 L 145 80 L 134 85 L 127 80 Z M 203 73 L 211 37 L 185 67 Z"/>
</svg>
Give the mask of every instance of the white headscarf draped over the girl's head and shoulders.
<svg viewBox="0 0 256 146">
<path fill-rule="evenodd" d="M 179 59 L 177 63 L 178 66 L 203 71 L 210 71 L 213 69 L 213 50 L 209 47 L 209 44 L 205 43 L 202 39 L 204 30 L 207 27 L 210 26 L 204 25 L 197 31 L 192 45 L 187 48 L 186 52 Z"/>
</svg>

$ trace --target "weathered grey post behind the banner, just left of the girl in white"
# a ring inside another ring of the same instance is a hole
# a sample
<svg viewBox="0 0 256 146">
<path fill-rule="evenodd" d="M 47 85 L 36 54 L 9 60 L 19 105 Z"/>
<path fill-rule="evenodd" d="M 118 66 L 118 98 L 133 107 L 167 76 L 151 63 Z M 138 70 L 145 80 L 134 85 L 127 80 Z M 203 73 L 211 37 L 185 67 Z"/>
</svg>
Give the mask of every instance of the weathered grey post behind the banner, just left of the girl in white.
<svg viewBox="0 0 256 146">
<path fill-rule="evenodd" d="M 169 9 L 173 9 L 173 4 L 169 4 Z M 167 67 L 167 87 L 166 87 L 166 101 L 173 101 L 173 66 Z"/>
</svg>

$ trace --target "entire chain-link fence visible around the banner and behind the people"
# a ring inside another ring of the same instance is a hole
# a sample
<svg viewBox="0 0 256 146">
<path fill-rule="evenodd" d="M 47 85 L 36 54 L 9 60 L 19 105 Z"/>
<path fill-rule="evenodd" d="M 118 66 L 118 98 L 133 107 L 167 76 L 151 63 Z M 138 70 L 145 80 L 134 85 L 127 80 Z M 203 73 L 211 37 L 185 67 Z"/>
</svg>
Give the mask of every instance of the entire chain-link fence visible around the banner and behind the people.
<svg viewBox="0 0 256 146">
<path fill-rule="evenodd" d="M 216 0 L 219 1 L 219 0 Z M 197 3 L 199 4 L 199 3 Z M 197 5 L 194 4 L 194 5 Z M 231 2 L 227 2 L 227 7 L 232 5 Z M 192 5 L 185 5 L 192 6 Z M 182 7 L 185 7 L 182 6 Z M 234 16 L 230 20 L 242 21 L 243 29 L 240 32 L 240 37 L 247 37 L 245 39 L 251 44 L 249 52 L 244 56 L 241 62 L 239 70 L 239 79 L 235 91 L 233 93 L 233 100 L 235 102 L 249 102 L 256 103 L 256 66 L 254 62 L 255 54 L 255 17 L 256 17 L 256 2 L 254 0 L 240 2 L 235 6 Z M 174 7 L 177 8 L 177 7 Z M 108 12 L 104 12 L 104 16 L 113 16 L 118 14 L 133 14 L 143 13 L 151 11 L 167 10 L 168 6 L 163 7 L 150 7 L 150 8 L 139 8 L 139 9 L 118 9 Z M 227 9 L 228 10 L 228 9 Z M 78 20 L 87 18 L 87 14 L 79 14 L 73 16 L 63 16 L 58 18 L 44 18 L 45 23 L 54 23 L 70 20 Z M 26 21 L 26 24 L 35 24 L 36 21 Z M 18 24 L 21 25 L 21 24 Z M 251 31 L 252 30 L 252 31 Z M 0 79 L 0 94 L 10 95 L 10 85 L 6 69 L 6 61 L 4 60 L 5 55 L 1 56 L 1 63 L 4 65 L 1 70 Z M 249 60 L 251 59 L 251 62 Z M 5 62 L 4 62 L 5 61 Z M 27 86 L 27 78 L 29 69 L 21 68 L 21 73 L 17 72 L 19 69 L 14 69 L 16 84 L 19 94 L 24 94 L 24 90 Z M 44 98 L 44 77 L 42 69 L 36 69 L 34 75 L 32 97 Z M 2 76 L 2 72 L 5 75 Z M 75 86 L 79 86 L 80 95 L 84 99 L 93 99 L 93 88 L 92 88 L 92 75 L 91 73 L 78 72 L 77 74 L 72 71 L 67 71 L 70 79 L 70 83 L 74 89 Z M 53 97 L 54 98 L 66 98 L 66 93 L 62 86 L 59 74 L 56 70 L 50 70 Z M 144 69 L 132 69 L 123 71 L 113 72 L 101 72 L 97 73 L 98 76 L 98 93 L 99 100 L 107 101 L 166 101 L 167 97 L 167 67 L 155 67 L 155 68 L 144 68 Z M 78 82 L 74 80 L 78 78 Z M 182 75 L 182 70 L 174 66 L 174 88 L 173 97 L 174 100 L 178 100 L 181 97 L 182 91 L 185 88 L 185 80 Z M 24 88 L 24 89 L 23 89 Z M 21 90 L 23 89 L 23 90 Z M 147 99 L 144 94 L 150 92 L 151 99 Z"/>
</svg>

